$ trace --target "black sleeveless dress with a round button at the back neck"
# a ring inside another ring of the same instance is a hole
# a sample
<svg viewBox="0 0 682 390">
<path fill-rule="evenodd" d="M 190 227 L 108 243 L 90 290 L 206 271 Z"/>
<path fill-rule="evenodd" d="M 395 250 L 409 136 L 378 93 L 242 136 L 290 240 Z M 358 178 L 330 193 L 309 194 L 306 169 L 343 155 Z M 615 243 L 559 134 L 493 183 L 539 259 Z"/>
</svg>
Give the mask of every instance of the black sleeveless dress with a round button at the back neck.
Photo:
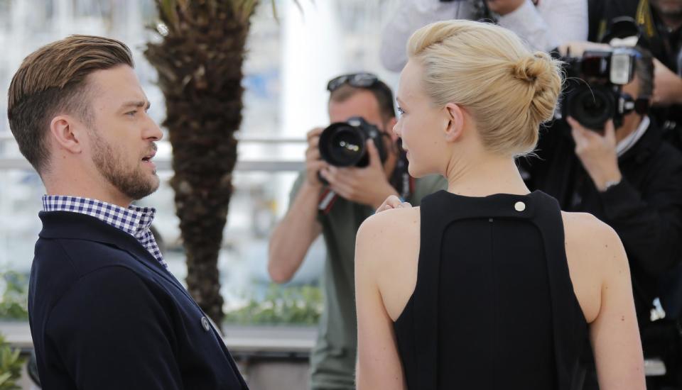
<svg viewBox="0 0 682 390">
<path fill-rule="evenodd" d="M 394 323 L 411 390 L 582 389 L 587 323 L 541 191 L 421 202 L 417 284 Z"/>
</svg>

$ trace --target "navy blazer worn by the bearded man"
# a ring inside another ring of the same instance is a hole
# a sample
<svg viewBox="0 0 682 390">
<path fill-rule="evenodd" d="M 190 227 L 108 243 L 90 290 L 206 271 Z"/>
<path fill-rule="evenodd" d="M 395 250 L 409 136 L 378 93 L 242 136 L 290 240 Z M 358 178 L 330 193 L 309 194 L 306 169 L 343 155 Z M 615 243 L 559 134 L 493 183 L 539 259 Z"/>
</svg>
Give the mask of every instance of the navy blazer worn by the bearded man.
<svg viewBox="0 0 682 390">
<path fill-rule="evenodd" d="M 247 389 L 205 313 L 133 236 L 39 216 L 28 316 L 43 389 Z"/>
</svg>

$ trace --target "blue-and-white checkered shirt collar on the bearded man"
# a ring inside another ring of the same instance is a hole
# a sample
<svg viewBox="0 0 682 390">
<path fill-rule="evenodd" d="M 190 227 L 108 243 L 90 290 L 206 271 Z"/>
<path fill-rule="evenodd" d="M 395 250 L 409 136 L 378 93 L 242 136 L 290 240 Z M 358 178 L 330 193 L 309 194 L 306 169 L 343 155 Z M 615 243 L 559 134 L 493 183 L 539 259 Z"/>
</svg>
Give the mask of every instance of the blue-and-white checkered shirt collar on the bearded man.
<svg viewBox="0 0 682 390">
<path fill-rule="evenodd" d="M 158 249 L 154 235 L 149 227 L 156 215 L 156 208 L 130 205 L 123 208 L 115 204 L 78 196 L 44 195 L 43 211 L 71 211 L 99 219 L 114 228 L 132 235 L 151 255 L 168 268 Z"/>
</svg>

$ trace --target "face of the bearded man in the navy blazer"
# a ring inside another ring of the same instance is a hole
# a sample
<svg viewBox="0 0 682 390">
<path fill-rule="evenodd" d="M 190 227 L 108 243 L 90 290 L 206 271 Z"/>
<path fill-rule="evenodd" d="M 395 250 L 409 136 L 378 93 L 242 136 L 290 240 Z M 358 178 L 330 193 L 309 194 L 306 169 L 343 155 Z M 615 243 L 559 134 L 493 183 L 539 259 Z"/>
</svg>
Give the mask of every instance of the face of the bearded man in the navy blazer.
<svg viewBox="0 0 682 390">
<path fill-rule="evenodd" d="M 91 86 L 90 158 L 99 174 L 129 199 L 141 199 L 159 184 L 154 141 L 161 129 L 147 115 L 149 103 L 131 67 L 94 72 Z"/>
</svg>

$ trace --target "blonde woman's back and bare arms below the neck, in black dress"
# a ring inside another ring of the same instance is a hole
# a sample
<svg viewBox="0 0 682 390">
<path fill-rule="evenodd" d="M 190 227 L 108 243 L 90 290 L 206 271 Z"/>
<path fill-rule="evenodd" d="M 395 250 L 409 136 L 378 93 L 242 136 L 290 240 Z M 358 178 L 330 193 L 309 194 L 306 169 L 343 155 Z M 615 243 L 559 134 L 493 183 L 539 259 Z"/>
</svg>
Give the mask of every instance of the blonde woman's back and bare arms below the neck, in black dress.
<svg viewBox="0 0 682 390">
<path fill-rule="evenodd" d="M 368 388 L 578 389 L 587 340 L 602 389 L 643 388 L 623 253 L 539 191 L 441 191 L 372 216 L 355 264 L 359 367 L 381 373 Z"/>
</svg>

